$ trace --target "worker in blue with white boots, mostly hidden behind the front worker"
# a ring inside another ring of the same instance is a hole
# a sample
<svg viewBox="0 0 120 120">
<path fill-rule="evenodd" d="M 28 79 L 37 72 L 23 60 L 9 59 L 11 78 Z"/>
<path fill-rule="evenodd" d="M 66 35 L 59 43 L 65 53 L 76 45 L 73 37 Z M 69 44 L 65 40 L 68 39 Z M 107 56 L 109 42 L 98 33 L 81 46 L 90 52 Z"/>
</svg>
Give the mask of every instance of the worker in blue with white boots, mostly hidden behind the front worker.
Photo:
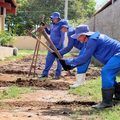
<svg viewBox="0 0 120 120">
<path fill-rule="evenodd" d="M 83 53 L 82 48 L 84 46 L 84 43 L 81 43 L 77 39 L 73 39 L 71 37 L 71 35 L 75 34 L 75 28 L 69 26 L 68 24 L 65 24 L 65 25 L 62 25 L 61 31 L 67 32 L 67 36 L 68 36 L 67 46 L 59 51 L 61 55 L 65 55 L 66 53 L 70 52 L 73 47 L 80 50 L 79 55 L 82 54 Z M 77 67 L 76 81 L 72 85 L 70 85 L 70 88 L 76 88 L 84 84 L 85 73 L 88 69 L 89 63 L 90 63 L 90 60 L 88 60 L 86 64 Z"/>
</svg>

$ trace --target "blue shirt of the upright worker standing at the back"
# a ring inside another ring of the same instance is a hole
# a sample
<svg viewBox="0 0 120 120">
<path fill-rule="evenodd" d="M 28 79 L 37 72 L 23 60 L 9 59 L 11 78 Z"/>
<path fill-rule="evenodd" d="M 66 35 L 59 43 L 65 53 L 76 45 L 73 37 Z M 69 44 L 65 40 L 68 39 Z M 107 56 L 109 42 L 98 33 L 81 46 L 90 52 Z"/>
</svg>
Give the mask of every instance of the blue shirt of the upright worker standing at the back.
<svg viewBox="0 0 120 120">
<path fill-rule="evenodd" d="M 65 33 L 61 31 L 61 26 L 64 24 L 65 20 L 60 20 L 56 24 L 50 24 L 50 28 L 46 28 L 45 31 L 50 35 L 50 39 L 54 43 L 57 49 L 63 48 L 63 43 L 65 39 Z"/>
</svg>

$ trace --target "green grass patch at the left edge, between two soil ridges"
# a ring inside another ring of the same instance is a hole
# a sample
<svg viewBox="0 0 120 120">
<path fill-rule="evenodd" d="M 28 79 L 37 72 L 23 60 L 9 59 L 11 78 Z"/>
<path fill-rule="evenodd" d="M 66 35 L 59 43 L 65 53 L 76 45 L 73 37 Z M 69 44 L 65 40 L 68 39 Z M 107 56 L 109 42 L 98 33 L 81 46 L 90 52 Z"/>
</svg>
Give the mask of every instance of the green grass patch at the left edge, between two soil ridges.
<svg viewBox="0 0 120 120">
<path fill-rule="evenodd" d="M 31 88 L 11 86 L 6 90 L 0 91 L 0 100 L 20 98 L 21 94 L 29 93 L 31 91 Z"/>
</svg>

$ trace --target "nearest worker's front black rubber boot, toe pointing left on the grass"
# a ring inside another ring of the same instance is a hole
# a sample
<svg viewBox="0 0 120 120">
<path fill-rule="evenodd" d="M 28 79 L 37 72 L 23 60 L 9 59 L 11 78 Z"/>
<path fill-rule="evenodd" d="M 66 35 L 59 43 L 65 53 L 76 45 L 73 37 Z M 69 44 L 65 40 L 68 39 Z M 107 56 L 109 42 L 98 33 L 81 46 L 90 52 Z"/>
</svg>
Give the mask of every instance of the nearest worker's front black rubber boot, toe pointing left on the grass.
<svg viewBox="0 0 120 120">
<path fill-rule="evenodd" d="M 113 94 L 114 94 L 114 88 L 102 89 L 102 102 L 97 105 L 93 105 L 92 107 L 96 109 L 112 107 L 113 106 L 113 102 L 112 102 Z"/>
</svg>

